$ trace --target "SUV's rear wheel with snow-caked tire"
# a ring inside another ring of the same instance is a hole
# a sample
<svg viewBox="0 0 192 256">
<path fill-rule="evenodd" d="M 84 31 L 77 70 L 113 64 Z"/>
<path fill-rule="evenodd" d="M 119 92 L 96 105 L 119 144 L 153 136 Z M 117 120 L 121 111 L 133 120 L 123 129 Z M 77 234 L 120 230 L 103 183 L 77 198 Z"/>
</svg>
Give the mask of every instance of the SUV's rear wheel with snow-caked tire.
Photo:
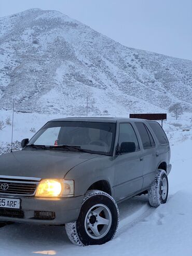
<svg viewBox="0 0 192 256">
<path fill-rule="evenodd" d="M 168 198 L 169 184 L 166 171 L 158 169 L 155 181 L 148 190 L 149 204 L 158 207 L 165 204 Z"/>
</svg>

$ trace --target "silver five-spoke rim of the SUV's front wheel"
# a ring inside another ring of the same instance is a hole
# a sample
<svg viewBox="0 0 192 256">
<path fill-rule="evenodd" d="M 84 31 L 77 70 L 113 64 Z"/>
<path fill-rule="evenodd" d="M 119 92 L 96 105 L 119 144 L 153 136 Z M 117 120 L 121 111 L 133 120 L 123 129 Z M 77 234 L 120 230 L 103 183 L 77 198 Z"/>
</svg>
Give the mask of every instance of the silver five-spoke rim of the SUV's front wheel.
<svg viewBox="0 0 192 256">
<path fill-rule="evenodd" d="M 104 237 L 112 225 L 112 214 L 106 205 L 92 206 L 85 217 L 85 230 L 93 239 Z"/>
</svg>

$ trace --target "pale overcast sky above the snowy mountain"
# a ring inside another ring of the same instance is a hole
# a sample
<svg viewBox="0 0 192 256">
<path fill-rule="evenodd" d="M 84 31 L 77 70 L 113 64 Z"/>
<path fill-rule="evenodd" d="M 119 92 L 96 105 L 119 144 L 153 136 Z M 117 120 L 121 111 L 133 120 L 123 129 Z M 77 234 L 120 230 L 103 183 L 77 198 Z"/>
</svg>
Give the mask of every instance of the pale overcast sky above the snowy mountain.
<svg viewBox="0 0 192 256">
<path fill-rule="evenodd" d="M 58 10 L 123 45 L 192 60 L 192 0 L 0 0 L 0 17 L 29 8 Z"/>
</svg>

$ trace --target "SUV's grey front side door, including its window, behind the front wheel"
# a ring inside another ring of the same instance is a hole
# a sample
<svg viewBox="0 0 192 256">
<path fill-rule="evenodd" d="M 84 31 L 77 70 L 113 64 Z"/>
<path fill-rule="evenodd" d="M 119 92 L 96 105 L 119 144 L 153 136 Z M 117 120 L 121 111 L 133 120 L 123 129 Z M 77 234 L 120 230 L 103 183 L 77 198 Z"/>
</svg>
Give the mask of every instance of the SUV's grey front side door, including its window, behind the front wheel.
<svg viewBox="0 0 192 256">
<path fill-rule="evenodd" d="M 117 201 L 140 191 L 143 185 L 141 150 L 130 123 L 119 124 L 118 147 L 122 142 L 134 142 L 136 151 L 116 155 L 114 159 L 114 196 Z"/>
</svg>

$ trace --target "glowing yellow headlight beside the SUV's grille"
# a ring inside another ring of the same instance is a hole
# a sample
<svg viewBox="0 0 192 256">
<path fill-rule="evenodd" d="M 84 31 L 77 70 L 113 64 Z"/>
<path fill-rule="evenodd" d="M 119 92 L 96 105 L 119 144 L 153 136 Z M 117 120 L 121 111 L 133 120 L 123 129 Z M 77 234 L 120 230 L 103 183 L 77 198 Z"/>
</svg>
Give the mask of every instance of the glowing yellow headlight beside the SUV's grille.
<svg viewBox="0 0 192 256">
<path fill-rule="evenodd" d="M 73 180 L 44 179 L 38 184 L 35 196 L 38 197 L 70 197 L 74 196 Z"/>
</svg>

